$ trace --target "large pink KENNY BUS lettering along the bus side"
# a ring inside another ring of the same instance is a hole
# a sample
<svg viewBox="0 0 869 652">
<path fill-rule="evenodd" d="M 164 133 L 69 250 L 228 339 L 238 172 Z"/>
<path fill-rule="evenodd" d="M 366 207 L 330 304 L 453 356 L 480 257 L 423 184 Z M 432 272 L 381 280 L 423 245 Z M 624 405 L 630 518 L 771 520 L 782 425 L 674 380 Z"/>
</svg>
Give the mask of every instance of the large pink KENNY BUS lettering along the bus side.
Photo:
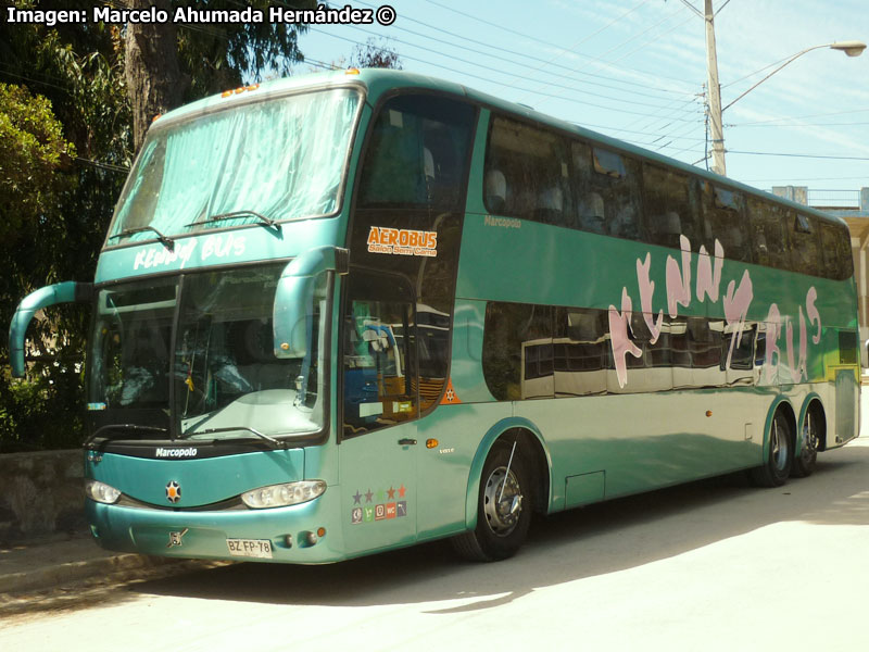
<svg viewBox="0 0 869 652">
<path fill-rule="evenodd" d="M 745 325 L 748 317 L 748 309 L 754 300 L 754 287 L 752 276 L 746 269 L 743 272 L 739 284 L 732 279 L 727 285 L 723 297 L 720 293 L 721 272 L 725 261 L 725 249 L 716 240 L 714 244 L 715 255 L 709 255 L 706 247 L 700 248 L 697 256 L 696 281 L 694 294 L 691 292 L 691 242 L 685 236 L 680 236 L 680 259 L 678 262 L 673 256 L 668 255 L 665 262 L 665 278 L 667 284 L 667 312 L 670 318 L 679 314 L 679 306 L 685 309 L 691 306 L 693 296 L 700 303 L 707 300 L 710 303 L 722 302 L 725 312 L 725 323 L 727 329 L 733 334 L 730 338 L 730 347 L 727 353 L 726 368 L 730 368 L 733 350 L 742 342 Z M 664 311 L 659 310 L 657 315 L 652 312 L 653 297 L 655 293 L 655 283 L 651 279 L 652 253 L 648 252 L 645 259 L 637 260 L 637 285 L 640 293 L 640 310 L 643 319 L 651 334 L 650 344 L 654 344 L 660 337 L 664 324 Z M 782 350 L 779 340 L 784 334 L 784 355 L 788 361 L 791 380 L 799 383 L 808 379 L 808 326 L 814 326 L 811 342 L 817 344 L 821 339 L 821 316 L 816 306 L 818 291 L 813 286 L 806 292 L 805 313 L 803 306 L 798 308 L 798 315 L 795 319 L 791 315 L 782 315 L 778 303 L 770 304 L 766 323 L 766 351 L 764 359 L 764 383 L 772 383 L 778 376 L 779 365 L 782 361 Z M 628 384 L 627 355 L 641 358 L 642 349 L 638 347 L 631 335 L 633 327 L 630 318 L 633 304 L 628 293 L 628 288 L 622 287 L 620 310 L 615 305 L 609 305 L 609 343 L 613 349 L 616 377 L 619 387 Z M 808 323 L 806 319 L 808 318 Z M 798 348 L 794 348 L 794 323 L 798 324 Z M 630 334 L 629 334 L 629 328 Z"/>
</svg>

